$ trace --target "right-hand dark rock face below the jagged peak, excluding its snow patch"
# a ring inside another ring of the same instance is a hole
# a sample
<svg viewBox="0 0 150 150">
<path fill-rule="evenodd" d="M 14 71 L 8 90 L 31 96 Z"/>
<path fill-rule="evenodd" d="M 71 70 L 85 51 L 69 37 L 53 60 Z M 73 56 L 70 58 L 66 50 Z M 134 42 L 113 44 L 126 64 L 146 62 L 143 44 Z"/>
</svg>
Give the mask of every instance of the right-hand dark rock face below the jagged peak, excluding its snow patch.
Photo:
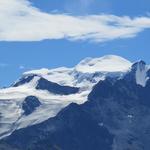
<svg viewBox="0 0 150 150">
<path fill-rule="evenodd" d="M 85 109 L 90 108 L 92 118 L 114 134 L 114 150 L 150 147 L 150 80 L 147 79 L 145 87 L 137 84 L 135 65 L 138 64 L 122 79 L 99 82 Z"/>
</svg>

